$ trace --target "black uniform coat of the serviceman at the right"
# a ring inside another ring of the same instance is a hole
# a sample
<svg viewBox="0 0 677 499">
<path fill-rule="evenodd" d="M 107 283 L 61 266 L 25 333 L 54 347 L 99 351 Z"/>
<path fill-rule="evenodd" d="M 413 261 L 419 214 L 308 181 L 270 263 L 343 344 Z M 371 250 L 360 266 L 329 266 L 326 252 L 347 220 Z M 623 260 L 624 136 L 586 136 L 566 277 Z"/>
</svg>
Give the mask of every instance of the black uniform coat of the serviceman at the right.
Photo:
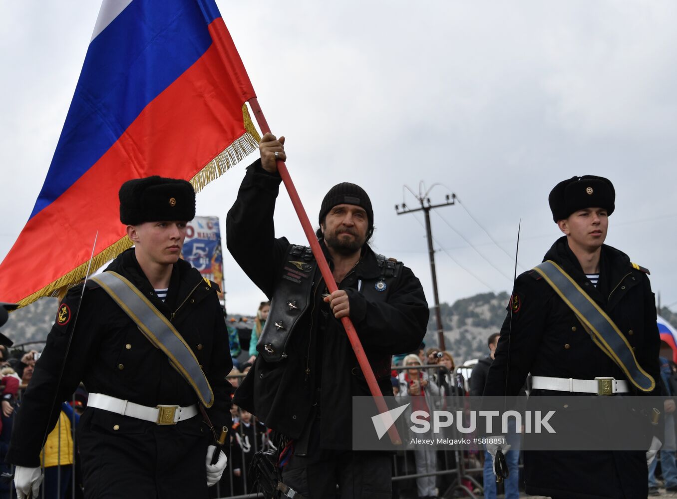
<svg viewBox="0 0 677 499">
<path fill-rule="evenodd" d="M 545 260 L 560 265 L 609 315 L 635 350 L 640 366 L 658 383 L 660 339 L 647 274 L 635 269 L 625 253 L 603 245 L 600 277 L 594 287 L 569 249 L 566 237 L 556 240 Z M 538 273 L 521 274 L 515 282 L 515 295 L 517 301 L 513 298 L 510 302 L 514 305 L 512 330 L 508 313 L 484 395 L 517 395 L 529 372 L 533 376 L 559 378 L 626 379 Z M 636 395 L 643 394 L 634 387 L 631 389 Z M 535 390 L 532 395 L 571 394 Z M 654 391 L 650 395 L 659 393 Z M 647 462 L 642 451 L 525 452 L 528 494 L 585 499 L 617 498 L 625 494 L 628 498 L 640 498 L 647 497 L 647 479 Z"/>
</svg>

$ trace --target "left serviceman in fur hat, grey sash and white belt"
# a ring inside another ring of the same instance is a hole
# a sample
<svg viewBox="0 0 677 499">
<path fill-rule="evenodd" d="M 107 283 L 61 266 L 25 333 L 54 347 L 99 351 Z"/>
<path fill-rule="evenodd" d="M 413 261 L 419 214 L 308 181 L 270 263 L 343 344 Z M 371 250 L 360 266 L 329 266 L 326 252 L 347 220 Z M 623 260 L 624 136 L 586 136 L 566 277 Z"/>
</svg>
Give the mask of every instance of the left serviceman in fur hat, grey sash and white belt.
<svg viewBox="0 0 677 499">
<path fill-rule="evenodd" d="M 58 307 L 7 453 L 20 499 L 37 497 L 45 436 L 81 381 L 87 498 L 206 498 L 226 466 L 215 452 L 232 392 L 219 288 L 179 257 L 195 192 L 154 176 L 125 182 L 119 198 L 135 247 Z"/>
</svg>

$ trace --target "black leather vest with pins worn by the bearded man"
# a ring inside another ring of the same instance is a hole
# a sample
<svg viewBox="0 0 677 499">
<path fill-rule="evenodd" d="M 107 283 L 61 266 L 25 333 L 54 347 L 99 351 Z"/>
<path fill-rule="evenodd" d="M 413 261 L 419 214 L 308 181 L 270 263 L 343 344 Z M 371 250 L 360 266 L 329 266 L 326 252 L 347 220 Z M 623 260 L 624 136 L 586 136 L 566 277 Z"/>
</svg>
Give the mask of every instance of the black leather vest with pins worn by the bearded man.
<svg viewBox="0 0 677 499">
<path fill-rule="evenodd" d="M 362 282 L 360 292 L 370 301 L 385 301 L 391 282 L 401 272 L 402 263 L 383 255 L 376 255 L 380 276 Z M 278 282 L 270 301 L 270 312 L 257 351 L 265 362 L 280 362 L 287 357 L 286 346 L 299 318 L 307 311 L 313 289 L 313 278 L 318 263 L 307 246 L 289 246 Z M 360 373 L 361 374 L 361 373 Z"/>
</svg>

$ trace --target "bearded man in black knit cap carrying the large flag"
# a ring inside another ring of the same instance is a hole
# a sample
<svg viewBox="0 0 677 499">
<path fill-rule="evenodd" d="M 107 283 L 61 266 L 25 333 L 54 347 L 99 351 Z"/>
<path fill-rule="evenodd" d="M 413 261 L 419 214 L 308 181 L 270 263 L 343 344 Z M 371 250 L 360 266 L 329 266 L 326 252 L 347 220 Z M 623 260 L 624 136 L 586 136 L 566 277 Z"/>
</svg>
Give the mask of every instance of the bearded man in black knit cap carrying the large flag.
<svg viewBox="0 0 677 499">
<path fill-rule="evenodd" d="M 391 456 L 351 450 L 353 396 L 369 396 L 341 318 L 362 342 L 381 393 L 393 395 L 391 355 L 412 351 L 429 309 L 420 282 L 368 241 L 374 213 L 367 193 L 339 183 L 322 201 L 322 251 L 338 290 L 329 293 L 310 248 L 274 236 L 284 137 L 266 133 L 227 215 L 227 246 L 267 297 L 271 310 L 255 365 L 234 402 L 280 437 L 282 481 L 305 498 L 391 498 Z M 252 230 L 256 227 L 256 230 Z"/>
</svg>

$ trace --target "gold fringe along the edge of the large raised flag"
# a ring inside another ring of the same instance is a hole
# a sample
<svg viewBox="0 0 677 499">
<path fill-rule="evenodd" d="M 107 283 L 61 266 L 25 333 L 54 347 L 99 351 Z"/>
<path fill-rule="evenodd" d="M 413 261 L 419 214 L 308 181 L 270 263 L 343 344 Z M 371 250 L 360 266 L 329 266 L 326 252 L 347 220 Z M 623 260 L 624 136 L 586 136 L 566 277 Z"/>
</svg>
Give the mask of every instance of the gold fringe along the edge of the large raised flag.
<svg viewBox="0 0 677 499">
<path fill-rule="evenodd" d="M 234 167 L 246 156 L 257 150 L 261 136 L 254 127 L 246 104 L 242 106 L 242 117 L 244 118 L 244 133 L 230 144 L 225 150 L 217 154 L 213 160 L 208 162 L 198 173 L 190 179 L 195 192 L 200 192 L 211 181 L 219 178 L 223 173 Z M 91 272 L 100 268 L 104 263 L 114 259 L 127 248 L 131 248 L 132 242 L 127 236 L 114 242 L 108 248 L 95 255 L 91 261 Z M 81 263 L 68 274 L 58 278 L 56 281 L 47 284 L 41 290 L 37 290 L 26 298 L 18 301 L 18 308 L 25 307 L 42 297 L 60 297 L 63 298 L 68 288 L 81 282 L 87 275 L 89 260 Z"/>
</svg>

